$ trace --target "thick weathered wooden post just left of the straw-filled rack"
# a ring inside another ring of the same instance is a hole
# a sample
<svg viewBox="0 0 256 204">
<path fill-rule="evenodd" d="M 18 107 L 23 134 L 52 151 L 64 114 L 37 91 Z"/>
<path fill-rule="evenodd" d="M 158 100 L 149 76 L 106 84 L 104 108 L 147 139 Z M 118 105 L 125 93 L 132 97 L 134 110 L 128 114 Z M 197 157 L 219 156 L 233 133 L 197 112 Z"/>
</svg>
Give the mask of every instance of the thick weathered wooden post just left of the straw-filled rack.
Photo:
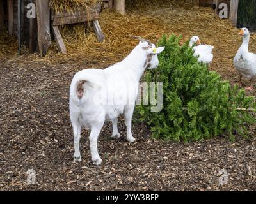
<svg viewBox="0 0 256 204">
<path fill-rule="evenodd" d="M 41 56 L 47 54 L 51 45 L 49 0 L 36 0 L 38 50 Z"/>
</svg>

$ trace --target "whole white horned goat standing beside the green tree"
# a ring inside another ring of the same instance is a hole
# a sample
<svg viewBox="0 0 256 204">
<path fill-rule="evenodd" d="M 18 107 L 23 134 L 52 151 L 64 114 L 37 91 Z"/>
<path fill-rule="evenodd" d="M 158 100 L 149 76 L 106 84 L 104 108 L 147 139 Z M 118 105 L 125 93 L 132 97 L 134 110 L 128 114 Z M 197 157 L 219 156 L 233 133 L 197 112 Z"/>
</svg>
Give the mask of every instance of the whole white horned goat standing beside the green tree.
<svg viewBox="0 0 256 204">
<path fill-rule="evenodd" d="M 134 50 L 122 61 L 109 68 L 84 69 L 74 76 L 70 85 L 70 119 L 74 131 L 74 159 L 81 161 L 79 141 L 81 128 L 90 128 L 90 151 L 93 164 L 100 165 L 97 140 L 105 120 L 111 120 L 113 135 L 120 137 L 118 116 L 124 113 L 127 140 L 134 142 L 131 124 L 138 94 L 139 81 L 145 69 L 157 68 L 157 54 L 164 47 L 156 48 L 149 40 L 140 40 Z"/>
</svg>

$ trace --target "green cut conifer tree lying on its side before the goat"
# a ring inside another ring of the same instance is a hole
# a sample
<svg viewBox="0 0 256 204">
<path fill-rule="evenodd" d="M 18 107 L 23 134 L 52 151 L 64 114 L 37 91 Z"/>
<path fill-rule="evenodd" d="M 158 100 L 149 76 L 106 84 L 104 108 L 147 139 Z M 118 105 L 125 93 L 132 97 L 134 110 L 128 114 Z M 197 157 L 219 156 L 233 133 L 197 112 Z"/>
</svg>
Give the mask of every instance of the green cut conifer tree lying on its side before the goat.
<svg viewBox="0 0 256 204">
<path fill-rule="evenodd" d="M 163 82 L 163 110 L 151 112 L 150 105 L 138 106 L 141 119 L 151 127 L 154 138 L 195 141 L 234 133 L 248 138 L 247 124 L 253 117 L 254 97 L 244 89 L 232 87 L 220 75 L 197 62 L 188 42 L 180 46 L 181 37 L 163 36 L 158 46 L 159 67 L 147 71 L 146 82 Z M 156 94 L 157 95 L 157 94 Z"/>
</svg>

